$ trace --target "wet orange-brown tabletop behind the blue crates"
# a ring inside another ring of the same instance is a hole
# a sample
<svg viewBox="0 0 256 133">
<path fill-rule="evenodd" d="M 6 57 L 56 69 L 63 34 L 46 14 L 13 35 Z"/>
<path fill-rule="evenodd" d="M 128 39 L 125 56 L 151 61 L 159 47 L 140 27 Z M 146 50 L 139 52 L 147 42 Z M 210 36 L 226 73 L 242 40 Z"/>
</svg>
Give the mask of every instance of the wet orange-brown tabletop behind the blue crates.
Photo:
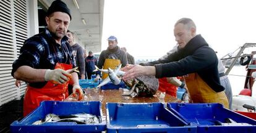
<svg viewBox="0 0 256 133">
<path fill-rule="evenodd" d="M 131 97 L 122 96 L 123 89 L 85 89 L 85 98 L 83 101 L 100 101 L 101 108 L 103 111 L 103 116 L 106 116 L 106 103 L 116 102 L 116 103 L 151 103 L 151 102 L 181 102 L 181 100 L 166 94 L 164 99 L 160 99 L 160 91 L 156 92 L 153 97 Z"/>
</svg>

